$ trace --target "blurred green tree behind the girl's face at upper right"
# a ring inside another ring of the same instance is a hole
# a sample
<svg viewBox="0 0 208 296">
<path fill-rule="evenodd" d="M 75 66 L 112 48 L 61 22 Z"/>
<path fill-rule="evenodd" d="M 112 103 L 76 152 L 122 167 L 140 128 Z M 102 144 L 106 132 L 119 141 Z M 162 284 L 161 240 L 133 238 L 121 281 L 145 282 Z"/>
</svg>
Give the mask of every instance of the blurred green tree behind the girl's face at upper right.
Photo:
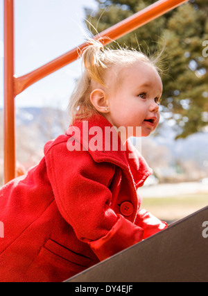
<svg viewBox="0 0 208 296">
<path fill-rule="evenodd" d="M 87 20 L 98 32 L 137 13 L 153 0 L 96 0 L 98 10 L 86 9 Z M 87 24 L 93 34 L 92 26 Z M 208 40 L 208 4 L 191 0 L 170 13 L 117 40 L 121 46 L 161 52 L 164 94 L 161 111 L 171 120 L 176 138 L 208 130 L 208 58 L 202 55 Z M 112 44 L 112 47 L 115 47 Z M 208 52 L 208 49 L 207 49 Z"/>
</svg>

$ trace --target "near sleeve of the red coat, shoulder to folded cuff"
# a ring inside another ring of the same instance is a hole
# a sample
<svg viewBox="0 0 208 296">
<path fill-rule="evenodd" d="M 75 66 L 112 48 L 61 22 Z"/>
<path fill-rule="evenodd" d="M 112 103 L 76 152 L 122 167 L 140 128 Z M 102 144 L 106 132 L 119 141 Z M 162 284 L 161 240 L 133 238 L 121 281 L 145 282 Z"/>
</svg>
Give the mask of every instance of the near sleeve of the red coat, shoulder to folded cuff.
<svg viewBox="0 0 208 296">
<path fill-rule="evenodd" d="M 62 217 L 100 261 L 142 240 L 144 230 L 111 208 L 115 165 L 94 162 L 88 151 L 69 152 L 66 142 L 49 149 L 46 165 Z"/>
</svg>

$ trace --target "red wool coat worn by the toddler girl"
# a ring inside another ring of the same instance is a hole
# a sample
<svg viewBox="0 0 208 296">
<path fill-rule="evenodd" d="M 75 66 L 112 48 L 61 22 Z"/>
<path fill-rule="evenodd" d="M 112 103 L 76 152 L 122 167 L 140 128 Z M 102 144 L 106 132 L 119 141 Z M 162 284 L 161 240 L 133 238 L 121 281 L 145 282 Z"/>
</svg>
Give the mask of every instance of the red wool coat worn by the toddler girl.
<svg viewBox="0 0 208 296">
<path fill-rule="evenodd" d="M 112 127 L 102 116 L 87 124 Z M 39 165 L 0 190 L 1 282 L 64 281 L 166 228 L 141 210 L 137 188 L 151 170 L 139 152 L 130 142 L 126 151 L 92 151 L 102 137 L 104 147 L 104 133 L 83 132 L 75 122 L 45 145 Z"/>
</svg>

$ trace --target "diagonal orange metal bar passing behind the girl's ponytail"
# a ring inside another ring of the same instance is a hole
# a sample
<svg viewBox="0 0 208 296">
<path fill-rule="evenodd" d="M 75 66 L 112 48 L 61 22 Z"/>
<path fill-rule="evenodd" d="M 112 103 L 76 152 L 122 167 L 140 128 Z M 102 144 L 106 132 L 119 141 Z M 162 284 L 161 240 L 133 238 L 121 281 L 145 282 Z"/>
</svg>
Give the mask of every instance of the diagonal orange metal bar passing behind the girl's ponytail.
<svg viewBox="0 0 208 296">
<path fill-rule="evenodd" d="M 182 3 L 187 1 L 188 0 L 159 0 L 156 3 L 148 6 L 144 10 L 139 11 L 139 13 L 128 17 L 122 22 L 119 22 L 119 24 L 116 24 L 111 28 L 103 31 L 102 33 L 96 35 L 94 38 L 104 38 L 103 44 L 109 44 L 112 42 L 112 40 L 121 38 L 123 35 L 126 35 L 127 33 L 130 33 L 131 31 L 144 26 L 144 24 L 147 24 L 153 19 L 164 15 L 164 13 L 167 13 L 168 11 L 176 8 L 177 6 L 180 6 Z M 79 49 L 82 50 L 86 46 L 86 43 L 81 44 L 79 46 Z M 45 76 L 68 65 L 69 63 L 72 63 L 74 60 L 77 60 L 78 57 L 78 50 L 76 47 L 75 49 L 69 51 L 67 54 L 56 58 L 55 60 L 47 63 L 46 65 L 38 69 L 35 69 L 35 71 L 19 78 L 15 78 L 15 95 L 19 94 L 33 83 L 39 81 L 40 79 L 43 79 Z"/>
</svg>

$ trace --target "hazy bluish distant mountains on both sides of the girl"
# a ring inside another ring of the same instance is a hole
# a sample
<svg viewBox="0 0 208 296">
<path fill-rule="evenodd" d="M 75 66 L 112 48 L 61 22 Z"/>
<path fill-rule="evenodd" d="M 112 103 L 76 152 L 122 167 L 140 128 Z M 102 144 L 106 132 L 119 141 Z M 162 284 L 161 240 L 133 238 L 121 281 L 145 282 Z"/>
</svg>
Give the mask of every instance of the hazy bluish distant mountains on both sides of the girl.
<svg viewBox="0 0 208 296">
<path fill-rule="evenodd" d="M 0 109 L 0 123 L 3 124 L 3 110 Z M 48 140 L 49 136 L 56 138 L 65 133 L 70 123 L 67 111 L 54 108 L 17 108 L 16 126 L 35 129 L 40 133 L 38 138 Z M 32 131 L 31 131 L 32 132 Z M 2 125 L 0 133 L 2 133 Z M 151 136 L 158 145 L 168 147 L 174 156 L 180 158 L 202 158 L 208 161 L 208 133 L 196 133 L 186 139 L 174 140 L 174 132 L 169 126 L 163 127 L 159 135 Z"/>
</svg>

